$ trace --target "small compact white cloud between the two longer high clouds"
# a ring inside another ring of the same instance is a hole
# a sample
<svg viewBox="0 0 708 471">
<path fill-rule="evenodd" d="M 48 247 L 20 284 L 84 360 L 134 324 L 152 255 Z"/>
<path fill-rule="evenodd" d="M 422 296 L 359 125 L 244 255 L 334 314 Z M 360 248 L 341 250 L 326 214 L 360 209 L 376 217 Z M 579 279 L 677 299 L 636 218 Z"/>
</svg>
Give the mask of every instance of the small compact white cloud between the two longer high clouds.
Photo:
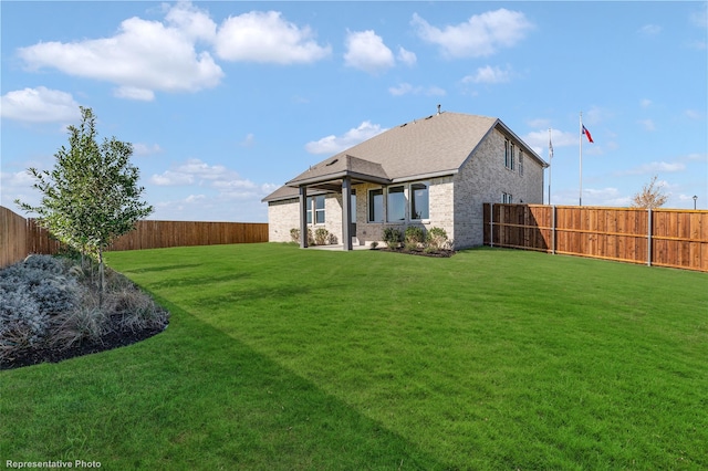
<svg viewBox="0 0 708 471">
<path fill-rule="evenodd" d="M 373 30 L 347 32 L 344 64 L 377 74 L 396 64 L 394 53 Z"/>
</svg>

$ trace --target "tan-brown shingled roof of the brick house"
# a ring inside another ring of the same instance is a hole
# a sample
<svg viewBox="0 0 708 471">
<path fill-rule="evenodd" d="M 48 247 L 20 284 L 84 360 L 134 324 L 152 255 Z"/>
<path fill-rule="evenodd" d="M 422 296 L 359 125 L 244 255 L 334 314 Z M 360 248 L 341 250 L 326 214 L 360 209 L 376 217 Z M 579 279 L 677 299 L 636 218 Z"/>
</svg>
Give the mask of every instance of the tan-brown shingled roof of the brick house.
<svg viewBox="0 0 708 471">
<path fill-rule="evenodd" d="M 548 166 L 500 119 L 445 112 L 414 119 L 350 147 L 310 167 L 263 201 L 292 198 L 300 186 L 335 190 L 344 176 L 353 181 L 385 185 L 452 175 L 494 127 L 522 146 L 527 155 Z"/>
</svg>

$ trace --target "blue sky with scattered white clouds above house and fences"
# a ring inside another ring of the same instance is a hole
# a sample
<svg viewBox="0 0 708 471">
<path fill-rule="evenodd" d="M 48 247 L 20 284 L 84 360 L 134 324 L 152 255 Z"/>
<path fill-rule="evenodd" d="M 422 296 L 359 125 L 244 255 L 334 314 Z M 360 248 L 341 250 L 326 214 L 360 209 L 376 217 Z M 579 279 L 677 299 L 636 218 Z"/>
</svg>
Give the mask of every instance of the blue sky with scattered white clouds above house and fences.
<svg viewBox="0 0 708 471">
<path fill-rule="evenodd" d="M 583 112 L 584 205 L 656 175 L 706 209 L 706 4 L 2 1 L 0 203 L 39 201 L 25 170 L 80 105 L 133 143 L 152 219 L 266 221 L 284 181 L 440 104 L 546 160 L 551 128 L 554 205 L 579 201 Z"/>
</svg>

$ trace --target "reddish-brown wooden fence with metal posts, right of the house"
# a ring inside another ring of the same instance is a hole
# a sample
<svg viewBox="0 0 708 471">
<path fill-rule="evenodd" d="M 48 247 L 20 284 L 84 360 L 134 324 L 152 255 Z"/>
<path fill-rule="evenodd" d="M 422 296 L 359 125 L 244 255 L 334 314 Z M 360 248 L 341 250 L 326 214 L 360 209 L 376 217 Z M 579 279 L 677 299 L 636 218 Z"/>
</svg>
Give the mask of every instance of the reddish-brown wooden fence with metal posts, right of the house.
<svg viewBox="0 0 708 471">
<path fill-rule="evenodd" d="M 708 211 L 485 205 L 485 244 L 708 272 Z"/>
</svg>

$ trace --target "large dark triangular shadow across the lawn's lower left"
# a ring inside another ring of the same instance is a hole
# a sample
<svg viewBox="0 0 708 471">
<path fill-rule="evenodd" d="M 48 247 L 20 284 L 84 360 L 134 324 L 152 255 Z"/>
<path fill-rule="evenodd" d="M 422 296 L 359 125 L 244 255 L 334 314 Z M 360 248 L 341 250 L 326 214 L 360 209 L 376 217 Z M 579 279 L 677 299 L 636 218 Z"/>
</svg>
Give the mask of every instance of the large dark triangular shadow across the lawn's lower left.
<svg viewBox="0 0 708 471">
<path fill-rule="evenodd" d="M 1 373 L 3 454 L 104 469 L 447 469 L 241 342 L 159 300 L 163 335 Z M 48 438 L 51 439 L 48 440 Z"/>
</svg>

